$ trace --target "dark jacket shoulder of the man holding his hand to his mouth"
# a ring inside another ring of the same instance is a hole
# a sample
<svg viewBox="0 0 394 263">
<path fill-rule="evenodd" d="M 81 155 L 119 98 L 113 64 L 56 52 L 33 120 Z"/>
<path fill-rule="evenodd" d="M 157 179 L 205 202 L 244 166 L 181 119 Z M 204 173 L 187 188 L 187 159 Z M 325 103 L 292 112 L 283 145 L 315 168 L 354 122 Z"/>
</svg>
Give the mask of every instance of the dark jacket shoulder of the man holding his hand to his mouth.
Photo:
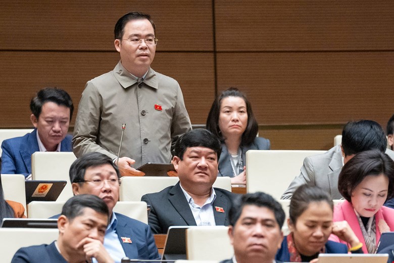
<svg viewBox="0 0 394 263">
<path fill-rule="evenodd" d="M 55 241 L 49 245 L 22 247 L 18 249 L 11 263 L 67 263 L 66 259 L 58 252 Z"/>
</svg>

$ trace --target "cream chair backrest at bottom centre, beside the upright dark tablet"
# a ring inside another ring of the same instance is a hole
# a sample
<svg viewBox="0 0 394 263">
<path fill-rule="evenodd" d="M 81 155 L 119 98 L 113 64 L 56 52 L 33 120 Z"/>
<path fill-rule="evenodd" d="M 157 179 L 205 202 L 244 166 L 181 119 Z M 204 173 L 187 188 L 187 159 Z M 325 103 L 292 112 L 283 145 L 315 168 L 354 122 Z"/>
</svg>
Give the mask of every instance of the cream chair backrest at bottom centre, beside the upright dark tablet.
<svg viewBox="0 0 394 263">
<path fill-rule="evenodd" d="M 186 258 L 189 260 L 224 260 L 234 249 L 228 237 L 228 227 L 190 227 L 186 230 Z"/>
</svg>

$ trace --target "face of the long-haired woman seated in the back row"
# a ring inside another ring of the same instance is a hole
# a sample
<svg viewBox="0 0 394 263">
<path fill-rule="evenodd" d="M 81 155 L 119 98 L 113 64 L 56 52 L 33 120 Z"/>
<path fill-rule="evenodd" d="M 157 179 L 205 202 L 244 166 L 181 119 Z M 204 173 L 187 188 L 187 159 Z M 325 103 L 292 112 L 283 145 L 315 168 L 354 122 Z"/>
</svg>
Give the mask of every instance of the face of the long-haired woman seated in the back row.
<svg viewBox="0 0 394 263">
<path fill-rule="evenodd" d="M 248 112 L 241 97 L 226 97 L 220 104 L 219 128 L 224 138 L 242 136 L 248 125 Z"/>
</svg>

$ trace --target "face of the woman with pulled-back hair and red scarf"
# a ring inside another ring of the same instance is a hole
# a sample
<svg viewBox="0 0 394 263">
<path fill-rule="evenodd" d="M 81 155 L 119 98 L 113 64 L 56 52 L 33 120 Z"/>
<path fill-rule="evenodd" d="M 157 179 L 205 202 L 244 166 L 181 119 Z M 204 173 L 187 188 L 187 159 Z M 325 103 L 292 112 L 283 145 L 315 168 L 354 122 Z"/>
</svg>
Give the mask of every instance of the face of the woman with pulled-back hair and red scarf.
<svg viewBox="0 0 394 263">
<path fill-rule="evenodd" d="M 319 252 L 328 240 L 332 229 L 332 209 L 325 202 L 311 202 L 293 225 L 288 222 L 298 252 L 311 256 Z"/>
</svg>

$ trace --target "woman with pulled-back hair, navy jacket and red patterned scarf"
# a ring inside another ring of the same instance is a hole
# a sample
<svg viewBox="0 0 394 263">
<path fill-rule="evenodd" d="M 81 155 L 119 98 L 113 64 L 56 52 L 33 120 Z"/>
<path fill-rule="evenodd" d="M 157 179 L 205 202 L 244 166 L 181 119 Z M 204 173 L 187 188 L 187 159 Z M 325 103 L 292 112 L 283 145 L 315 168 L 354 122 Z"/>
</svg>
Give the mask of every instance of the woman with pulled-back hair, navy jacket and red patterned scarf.
<svg viewBox="0 0 394 263">
<path fill-rule="evenodd" d="M 360 240 L 346 221 L 332 221 L 331 196 L 317 186 L 302 185 L 294 191 L 290 201 L 287 225 L 290 234 L 284 237 L 276 260 L 283 262 L 316 262 L 320 253 L 348 253 L 344 244 L 329 241 L 331 234 L 347 240 L 349 251 L 362 253 Z"/>
</svg>

